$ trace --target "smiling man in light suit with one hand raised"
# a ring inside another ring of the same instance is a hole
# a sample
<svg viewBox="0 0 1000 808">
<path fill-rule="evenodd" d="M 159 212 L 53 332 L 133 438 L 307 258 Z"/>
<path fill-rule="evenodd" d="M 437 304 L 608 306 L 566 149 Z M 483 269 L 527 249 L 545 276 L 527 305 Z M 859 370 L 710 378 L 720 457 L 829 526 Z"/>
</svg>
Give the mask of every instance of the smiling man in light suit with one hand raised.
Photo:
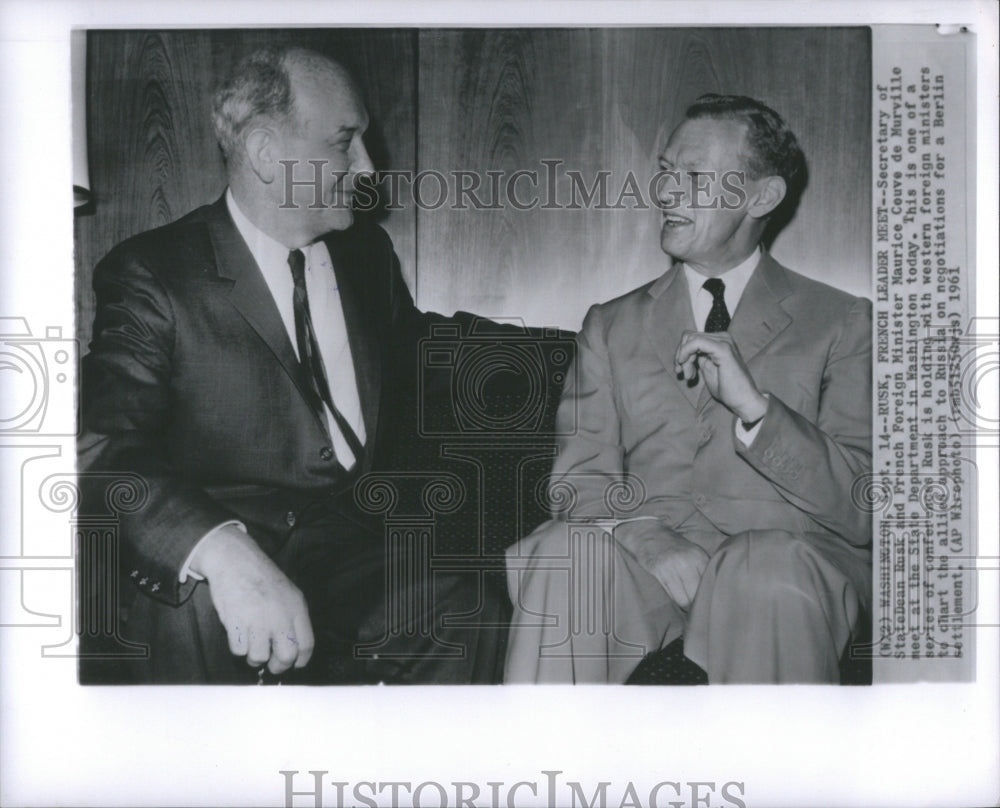
<svg viewBox="0 0 1000 808">
<path fill-rule="evenodd" d="M 624 682 L 683 637 L 712 683 L 836 682 L 871 598 L 871 305 L 761 247 L 804 175 L 770 108 L 703 96 L 661 169 L 675 263 L 584 321 L 550 482 L 574 507 L 508 551 L 506 681 Z"/>
</svg>

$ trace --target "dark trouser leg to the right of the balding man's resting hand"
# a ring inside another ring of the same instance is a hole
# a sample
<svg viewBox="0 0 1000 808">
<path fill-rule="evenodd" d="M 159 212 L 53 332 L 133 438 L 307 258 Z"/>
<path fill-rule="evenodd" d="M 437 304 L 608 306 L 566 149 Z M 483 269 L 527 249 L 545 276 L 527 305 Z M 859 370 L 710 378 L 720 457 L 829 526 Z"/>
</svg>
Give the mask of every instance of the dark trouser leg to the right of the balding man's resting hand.
<svg viewBox="0 0 1000 808">
<path fill-rule="evenodd" d="M 479 570 L 435 569 L 429 534 L 331 518 L 296 539 L 290 575 L 317 629 L 308 681 L 500 681 L 506 597 Z"/>
</svg>

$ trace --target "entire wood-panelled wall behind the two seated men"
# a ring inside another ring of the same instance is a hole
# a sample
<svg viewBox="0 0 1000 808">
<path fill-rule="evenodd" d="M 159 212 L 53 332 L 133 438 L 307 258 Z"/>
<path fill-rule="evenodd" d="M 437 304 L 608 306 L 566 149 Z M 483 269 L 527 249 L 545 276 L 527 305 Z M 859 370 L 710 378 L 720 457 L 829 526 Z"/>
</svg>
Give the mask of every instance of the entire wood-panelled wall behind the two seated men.
<svg viewBox="0 0 1000 808">
<path fill-rule="evenodd" d="M 254 29 L 97 31 L 88 37 L 92 213 L 76 220 L 77 332 L 89 339 L 94 264 L 123 238 L 217 198 L 210 93 L 244 53 L 298 42 L 362 85 L 379 169 L 539 172 L 560 160 L 611 201 L 644 182 L 703 92 L 772 104 L 809 161 L 802 204 L 773 245 L 791 267 L 869 288 L 870 44 L 865 29 Z M 528 186 L 519 185 L 522 190 Z M 436 195 L 434 182 L 423 186 Z M 482 197 L 488 196 L 480 189 Z M 544 194 L 542 194 L 544 196 Z M 380 215 L 425 309 L 578 327 L 587 307 L 658 276 L 659 212 L 415 211 Z M 452 198 L 451 201 L 454 201 Z M 550 200 L 551 201 L 551 200 Z"/>
</svg>

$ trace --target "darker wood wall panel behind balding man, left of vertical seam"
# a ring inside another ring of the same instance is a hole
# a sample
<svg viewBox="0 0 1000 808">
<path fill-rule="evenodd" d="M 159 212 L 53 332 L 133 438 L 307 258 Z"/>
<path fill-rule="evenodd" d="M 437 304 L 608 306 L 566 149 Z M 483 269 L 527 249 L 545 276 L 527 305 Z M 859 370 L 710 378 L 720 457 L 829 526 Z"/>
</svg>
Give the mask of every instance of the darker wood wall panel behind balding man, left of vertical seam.
<svg viewBox="0 0 1000 808">
<path fill-rule="evenodd" d="M 339 59 L 371 112 L 365 138 L 380 169 L 414 161 L 415 33 L 369 29 L 92 31 L 87 38 L 88 148 L 94 206 L 75 221 L 77 337 L 93 323 L 91 275 L 115 244 L 212 202 L 225 188 L 211 93 L 244 54 L 298 43 Z M 412 210 L 377 215 L 412 284 Z"/>
</svg>

